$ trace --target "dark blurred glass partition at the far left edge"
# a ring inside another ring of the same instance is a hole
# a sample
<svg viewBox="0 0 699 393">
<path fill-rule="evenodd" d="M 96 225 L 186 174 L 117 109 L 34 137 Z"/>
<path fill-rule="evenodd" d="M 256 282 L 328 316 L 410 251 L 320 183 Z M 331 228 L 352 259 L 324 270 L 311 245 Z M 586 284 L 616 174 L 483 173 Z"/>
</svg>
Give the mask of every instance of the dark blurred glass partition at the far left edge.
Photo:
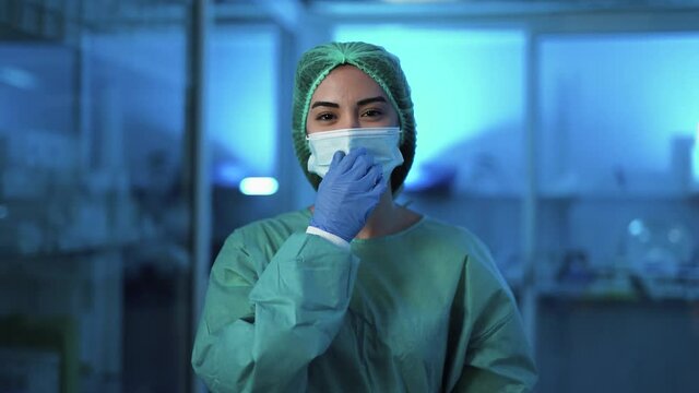
<svg viewBox="0 0 699 393">
<path fill-rule="evenodd" d="M 188 391 L 185 7 L 84 3 L 0 19 L 0 391 Z"/>
</svg>

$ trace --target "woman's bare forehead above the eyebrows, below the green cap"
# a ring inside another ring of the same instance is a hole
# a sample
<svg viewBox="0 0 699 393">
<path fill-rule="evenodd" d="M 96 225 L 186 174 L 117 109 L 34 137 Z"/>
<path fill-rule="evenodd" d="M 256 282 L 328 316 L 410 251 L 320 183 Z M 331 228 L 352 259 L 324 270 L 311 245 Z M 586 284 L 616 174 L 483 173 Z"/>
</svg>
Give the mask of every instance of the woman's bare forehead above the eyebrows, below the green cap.
<svg viewBox="0 0 699 393">
<path fill-rule="evenodd" d="M 362 99 L 376 96 L 386 97 L 386 93 L 371 76 L 354 66 L 340 66 L 318 85 L 312 100 Z"/>
</svg>

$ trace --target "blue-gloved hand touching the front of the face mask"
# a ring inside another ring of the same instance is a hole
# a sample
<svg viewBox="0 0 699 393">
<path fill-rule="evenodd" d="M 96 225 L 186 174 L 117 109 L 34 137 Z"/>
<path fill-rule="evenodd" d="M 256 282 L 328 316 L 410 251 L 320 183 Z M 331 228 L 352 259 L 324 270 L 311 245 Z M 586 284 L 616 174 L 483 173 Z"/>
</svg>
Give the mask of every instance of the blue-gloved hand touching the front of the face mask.
<svg viewBox="0 0 699 393">
<path fill-rule="evenodd" d="M 352 241 L 386 191 L 383 168 L 364 147 L 337 151 L 318 187 L 310 226 Z"/>
</svg>

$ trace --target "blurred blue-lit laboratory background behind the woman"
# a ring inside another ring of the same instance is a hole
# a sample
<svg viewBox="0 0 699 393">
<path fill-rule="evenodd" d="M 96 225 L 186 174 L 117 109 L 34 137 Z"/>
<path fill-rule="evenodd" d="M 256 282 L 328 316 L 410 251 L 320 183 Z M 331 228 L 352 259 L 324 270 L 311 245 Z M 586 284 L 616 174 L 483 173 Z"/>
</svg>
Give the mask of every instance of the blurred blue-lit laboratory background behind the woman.
<svg viewBox="0 0 699 393">
<path fill-rule="evenodd" d="M 471 228 L 537 392 L 698 392 L 699 4 L 0 0 L 0 392 L 204 392 L 226 236 L 313 201 L 295 63 L 401 58 L 400 203 Z"/>
</svg>

